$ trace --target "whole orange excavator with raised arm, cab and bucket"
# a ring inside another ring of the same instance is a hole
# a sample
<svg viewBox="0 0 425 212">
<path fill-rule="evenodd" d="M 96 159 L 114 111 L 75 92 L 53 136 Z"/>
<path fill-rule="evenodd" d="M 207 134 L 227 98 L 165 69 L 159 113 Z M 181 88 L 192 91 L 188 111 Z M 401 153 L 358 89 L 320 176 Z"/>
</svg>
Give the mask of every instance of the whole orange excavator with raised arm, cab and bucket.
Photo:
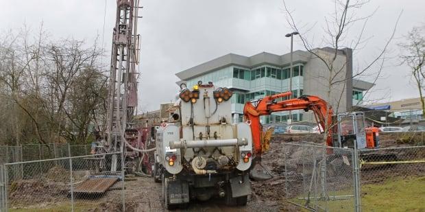
<svg viewBox="0 0 425 212">
<path fill-rule="evenodd" d="M 267 180 L 271 174 L 261 164 L 261 154 L 269 150 L 273 129 L 263 132 L 260 116 L 287 110 L 312 110 L 317 123 L 324 129 L 326 145 L 339 148 L 354 148 L 354 143 L 359 149 L 378 148 L 379 137 L 377 128 L 366 128 L 364 115 L 361 112 L 343 113 L 335 117 L 332 107 L 317 96 L 303 95 L 298 98 L 277 102 L 276 99 L 291 96 L 291 92 L 265 96 L 257 101 L 247 102 L 243 114 L 250 124 L 254 153 L 256 155 L 250 176 L 254 180 Z M 320 130 L 320 127 L 319 127 Z"/>
</svg>

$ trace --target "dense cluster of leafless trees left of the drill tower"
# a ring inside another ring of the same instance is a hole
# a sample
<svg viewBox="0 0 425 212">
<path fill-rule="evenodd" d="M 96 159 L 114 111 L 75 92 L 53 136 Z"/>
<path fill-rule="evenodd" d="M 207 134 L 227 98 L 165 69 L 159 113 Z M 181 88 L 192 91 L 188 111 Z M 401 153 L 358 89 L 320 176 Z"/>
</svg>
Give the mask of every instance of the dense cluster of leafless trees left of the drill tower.
<svg viewBox="0 0 425 212">
<path fill-rule="evenodd" d="M 97 114 L 105 113 L 108 77 L 97 43 L 49 40 L 42 25 L 32 35 L 24 26 L 0 39 L 2 141 L 88 142 L 93 123 L 103 121 Z"/>
</svg>

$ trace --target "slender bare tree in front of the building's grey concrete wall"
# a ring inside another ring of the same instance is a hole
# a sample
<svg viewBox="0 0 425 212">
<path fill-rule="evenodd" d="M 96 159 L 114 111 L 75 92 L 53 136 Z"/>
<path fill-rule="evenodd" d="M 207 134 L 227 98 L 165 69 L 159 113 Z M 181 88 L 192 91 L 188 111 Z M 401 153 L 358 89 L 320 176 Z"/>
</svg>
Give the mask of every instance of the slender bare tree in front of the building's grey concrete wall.
<svg viewBox="0 0 425 212">
<path fill-rule="evenodd" d="M 364 38 L 363 33 L 365 32 L 367 21 L 373 16 L 374 12 L 367 16 L 357 15 L 367 3 L 368 1 L 363 0 L 335 0 L 334 10 L 324 18 L 324 27 L 322 27 L 324 36 L 319 39 L 319 45 L 327 45 L 330 48 L 317 48 L 318 44 L 315 43 L 315 36 L 310 34 L 315 24 L 310 28 L 306 28 L 306 26 L 299 27 L 295 23 L 293 12 L 289 10 L 287 3 L 283 0 L 287 23 L 289 23 L 295 32 L 299 32 L 298 36 L 306 51 L 311 54 L 311 60 L 319 60 L 326 70 L 326 73 L 317 75 L 316 80 L 317 83 L 322 84 L 326 88 L 326 97 L 324 98 L 334 106 L 335 113 L 338 113 L 341 108 L 343 110 L 348 109 L 347 106 L 341 106 L 341 103 L 343 103 L 341 99 L 347 97 L 347 100 L 351 101 L 351 98 L 348 97 L 351 97 L 352 93 L 345 88 L 349 87 L 347 84 L 352 83 L 352 78 L 361 75 L 369 75 L 369 77 L 374 75 L 374 81 L 379 78 L 386 59 L 387 48 L 396 32 L 398 19 L 400 19 L 401 12 L 393 27 L 391 36 L 389 36 L 378 54 L 370 58 L 369 62 L 366 62 L 363 67 L 358 66 L 356 71 L 348 74 L 346 71 L 347 66 L 352 66 L 352 64 L 348 64 L 344 58 L 352 56 L 356 51 L 362 49 L 363 45 L 367 42 L 367 38 Z M 354 26 L 360 26 L 361 30 L 352 32 L 351 29 Z M 326 119 L 327 122 L 328 120 Z M 328 130 L 324 129 L 325 138 L 327 137 Z"/>
</svg>

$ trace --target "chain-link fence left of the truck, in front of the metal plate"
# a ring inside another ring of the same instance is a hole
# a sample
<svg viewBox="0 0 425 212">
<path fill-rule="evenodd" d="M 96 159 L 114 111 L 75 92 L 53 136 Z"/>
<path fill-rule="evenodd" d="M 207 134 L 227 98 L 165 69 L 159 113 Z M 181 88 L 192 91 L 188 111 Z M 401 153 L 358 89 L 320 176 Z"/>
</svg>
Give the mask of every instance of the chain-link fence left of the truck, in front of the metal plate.
<svg viewBox="0 0 425 212">
<path fill-rule="evenodd" d="M 112 156 L 119 161 L 114 173 L 106 172 Z M 117 152 L 0 165 L 0 211 L 124 211 L 121 159 Z"/>
</svg>

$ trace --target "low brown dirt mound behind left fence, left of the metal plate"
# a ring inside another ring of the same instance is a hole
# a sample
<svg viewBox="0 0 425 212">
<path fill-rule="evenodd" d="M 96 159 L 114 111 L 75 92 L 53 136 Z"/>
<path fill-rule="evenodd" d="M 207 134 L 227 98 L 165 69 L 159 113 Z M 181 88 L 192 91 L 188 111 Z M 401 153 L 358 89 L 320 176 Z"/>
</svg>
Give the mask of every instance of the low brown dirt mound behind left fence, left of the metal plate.
<svg viewBox="0 0 425 212">
<path fill-rule="evenodd" d="M 9 200 L 12 204 L 58 202 L 66 199 L 64 187 L 45 180 L 19 180 L 10 185 Z"/>
</svg>

